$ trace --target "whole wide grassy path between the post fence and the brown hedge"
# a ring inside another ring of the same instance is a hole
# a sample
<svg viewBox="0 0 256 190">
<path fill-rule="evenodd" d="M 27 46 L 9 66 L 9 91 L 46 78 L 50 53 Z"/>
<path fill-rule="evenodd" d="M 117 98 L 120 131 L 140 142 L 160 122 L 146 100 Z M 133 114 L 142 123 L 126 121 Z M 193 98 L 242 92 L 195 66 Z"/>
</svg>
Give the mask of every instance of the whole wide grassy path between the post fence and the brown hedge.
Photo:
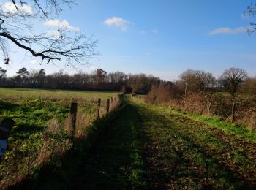
<svg viewBox="0 0 256 190">
<path fill-rule="evenodd" d="M 67 189 L 256 189 L 255 142 L 135 100 L 79 160 Z"/>
</svg>

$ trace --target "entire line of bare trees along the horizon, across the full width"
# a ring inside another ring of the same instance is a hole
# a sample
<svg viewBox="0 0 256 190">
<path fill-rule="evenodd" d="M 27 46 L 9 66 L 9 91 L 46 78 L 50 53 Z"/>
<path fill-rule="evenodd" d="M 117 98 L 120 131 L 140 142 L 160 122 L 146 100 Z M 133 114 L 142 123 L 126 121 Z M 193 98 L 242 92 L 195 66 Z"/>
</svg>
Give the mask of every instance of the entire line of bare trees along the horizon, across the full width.
<svg viewBox="0 0 256 190">
<path fill-rule="evenodd" d="M 51 88 L 92 91 L 127 91 L 148 94 L 152 86 L 171 86 L 176 94 L 203 91 L 227 91 L 231 95 L 237 91 L 256 92 L 256 78 L 249 77 L 244 69 L 226 69 L 219 78 L 210 72 L 188 69 L 179 75 L 176 82 L 161 80 L 145 74 L 107 73 L 96 69 L 91 73 L 78 72 L 74 75 L 60 70 L 47 75 L 44 69 L 20 68 L 17 75 L 7 77 L 7 70 L 0 67 L 0 86 L 12 88 Z"/>
</svg>

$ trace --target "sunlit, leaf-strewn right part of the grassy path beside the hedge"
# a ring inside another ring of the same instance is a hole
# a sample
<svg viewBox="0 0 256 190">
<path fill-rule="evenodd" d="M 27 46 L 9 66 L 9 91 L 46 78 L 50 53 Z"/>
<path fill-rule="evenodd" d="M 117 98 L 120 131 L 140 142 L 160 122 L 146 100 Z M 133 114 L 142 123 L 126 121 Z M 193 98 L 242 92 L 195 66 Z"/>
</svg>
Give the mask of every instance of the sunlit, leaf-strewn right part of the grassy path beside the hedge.
<svg viewBox="0 0 256 190">
<path fill-rule="evenodd" d="M 210 125 L 181 110 L 134 101 L 146 134 L 145 151 L 153 155 L 146 162 L 149 168 L 151 160 L 157 165 L 147 173 L 162 176 L 165 172 L 160 177 L 164 181 L 155 178 L 153 188 L 165 183 L 164 188 L 173 189 L 253 189 L 256 145 L 252 136 L 245 132 L 241 137 L 237 126 L 224 130 L 219 123 Z"/>
</svg>

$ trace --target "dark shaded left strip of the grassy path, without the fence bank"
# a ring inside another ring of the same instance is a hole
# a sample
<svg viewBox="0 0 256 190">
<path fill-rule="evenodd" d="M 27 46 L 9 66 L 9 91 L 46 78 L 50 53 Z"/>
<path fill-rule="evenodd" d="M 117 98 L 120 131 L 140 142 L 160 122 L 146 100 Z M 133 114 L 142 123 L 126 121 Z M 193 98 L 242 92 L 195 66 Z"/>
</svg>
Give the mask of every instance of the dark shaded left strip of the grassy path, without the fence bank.
<svg viewBox="0 0 256 190">
<path fill-rule="evenodd" d="M 91 147 L 78 168 L 72 189 L 143 189 L 146 186 L 140 153 L 138 113 L 125 104 Z"/>
</svg>

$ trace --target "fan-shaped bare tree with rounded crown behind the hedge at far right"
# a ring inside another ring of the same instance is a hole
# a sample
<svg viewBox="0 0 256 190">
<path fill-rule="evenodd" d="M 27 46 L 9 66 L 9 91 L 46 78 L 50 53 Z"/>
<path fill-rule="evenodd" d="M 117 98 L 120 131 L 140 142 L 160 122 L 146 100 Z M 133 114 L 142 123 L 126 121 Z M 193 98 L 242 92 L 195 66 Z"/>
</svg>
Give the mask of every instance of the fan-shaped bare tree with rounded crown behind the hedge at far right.
<svg viewBox="0 0 256 190">
<path fill-rule="evenodd" d="M 241 86 L 241 83 L 246 80 L 247 76 L 247 72 L 244 69 L 232 67 L 222 73 L 219 81 L 234 98 L 236 91 Z"/>
</svg>

